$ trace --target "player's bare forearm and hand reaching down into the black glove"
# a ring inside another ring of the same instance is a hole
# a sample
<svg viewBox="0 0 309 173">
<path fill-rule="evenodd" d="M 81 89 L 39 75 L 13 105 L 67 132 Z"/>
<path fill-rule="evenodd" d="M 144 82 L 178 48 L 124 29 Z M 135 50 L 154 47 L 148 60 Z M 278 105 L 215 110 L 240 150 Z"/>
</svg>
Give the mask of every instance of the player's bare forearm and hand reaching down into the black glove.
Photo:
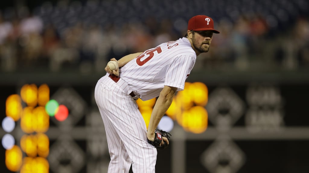
<svg viewBox="0 0 309 173">
<path fill-rule="evenodd" d="M 153 141 L 155 139 L 155 129 L 157 128 L 167 109 L 171 106 L 176 90 L 176 87 L 164 86 L 163 90 L 161 91 L 150 117 L 147 131 L 147 138 L 149 140 Z M 161 144 L 163 144 L 164 141 L 168 144 L 168 140 L 165 137 L 163 137 Z"/>
</svg>

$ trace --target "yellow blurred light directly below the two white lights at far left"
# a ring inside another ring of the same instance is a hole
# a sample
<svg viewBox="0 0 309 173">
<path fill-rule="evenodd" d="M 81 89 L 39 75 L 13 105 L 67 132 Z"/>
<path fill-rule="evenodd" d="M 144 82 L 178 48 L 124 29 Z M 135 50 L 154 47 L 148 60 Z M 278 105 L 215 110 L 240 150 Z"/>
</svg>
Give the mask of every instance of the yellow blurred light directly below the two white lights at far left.
<svg viewBox="0 0 309 173">
<path fill-rule="evenodd" d="M 19 171 L 22 165 L 22 151 L 16 145 L 14 145 L 10 150 L 5 151 L 5 164 L 7 169 L 16 172 Z"/>
</svg>

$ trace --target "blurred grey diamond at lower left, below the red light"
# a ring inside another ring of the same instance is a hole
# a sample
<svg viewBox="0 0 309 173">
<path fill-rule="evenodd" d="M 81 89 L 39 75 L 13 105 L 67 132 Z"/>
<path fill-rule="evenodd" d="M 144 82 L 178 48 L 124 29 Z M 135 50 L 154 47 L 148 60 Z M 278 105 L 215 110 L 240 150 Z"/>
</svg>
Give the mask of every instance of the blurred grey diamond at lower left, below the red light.
<svg viewBox="0 0 309 173">
<path fill-rule="evenodd" d="M 84 151 L 73 141 L 61 139 L 50 147 L 50 168 L 55 173 L 78 173 L 85 164 Z"/>
</svg>

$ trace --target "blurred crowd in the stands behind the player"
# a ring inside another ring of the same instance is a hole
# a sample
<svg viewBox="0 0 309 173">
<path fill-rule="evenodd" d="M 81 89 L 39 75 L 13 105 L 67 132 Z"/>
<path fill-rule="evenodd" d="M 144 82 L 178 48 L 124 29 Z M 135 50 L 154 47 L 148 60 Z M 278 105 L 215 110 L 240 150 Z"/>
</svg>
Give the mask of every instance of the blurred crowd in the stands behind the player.
<svg viewBox="0 0 309 173">
<path fill-rule="evenodd" d="M 119 7 L 121 1 L 118 2 Z M 70 4 L 74 8 L 69 8 Z M 86 13 L 83 8 L 90 6 L 91 11 L 97 6 L 70 4 L 46 2 L 33 9 L 19 6 L 0 11 L 1 71 L 103 71 L 110 58 L 119 59 L 183 37 L 187 21 L 194 14 L 184 14 L 178 8 L 182 16 L 169 18 L 163 11 L 165 17 L 147 14 L 126 21 L 129 13 L 123 13 L 123 20 L 119 21 L 119 16 L 101 18 L 100 15 L 109 15 L 103 14 L 103 9 L 81 19 Z M 105 8 L 116 9 L 106 4 Z M 80 16 L 76 17 L 78 13 Z M 131 13 L 139 15 L 134 9 Z M 207 12 L 205 15 L 213 17 Z M 294 15 L 285 22 L 259 13 L 235 15 L 232 10 L 231 15 L 232 20 L 214 15 L 215 28 L 221 33 L 214 34 L 210 52 L 198 56 L 195 69 L 308 69 L 307 15 Z"/>
</svg>

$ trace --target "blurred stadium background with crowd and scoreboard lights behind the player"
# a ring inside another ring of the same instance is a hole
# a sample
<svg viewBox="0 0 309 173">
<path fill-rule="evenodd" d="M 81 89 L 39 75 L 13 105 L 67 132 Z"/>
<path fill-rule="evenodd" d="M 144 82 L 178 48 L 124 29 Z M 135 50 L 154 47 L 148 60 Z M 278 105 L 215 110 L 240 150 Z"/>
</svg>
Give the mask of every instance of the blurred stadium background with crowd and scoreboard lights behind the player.
<svg viewBox="0 0 309 173">
<path fill-rule="evenodd" d="M 214 19 L 210 52 L 160 126 L 162 173 L 307 173 L 307 0 L 0 2 L 0 170 L 102 173 L 109 162 L 93 93 L 110 58 Z M 138 101 L 147 124 L 154 100 Z"/>
</svg>

